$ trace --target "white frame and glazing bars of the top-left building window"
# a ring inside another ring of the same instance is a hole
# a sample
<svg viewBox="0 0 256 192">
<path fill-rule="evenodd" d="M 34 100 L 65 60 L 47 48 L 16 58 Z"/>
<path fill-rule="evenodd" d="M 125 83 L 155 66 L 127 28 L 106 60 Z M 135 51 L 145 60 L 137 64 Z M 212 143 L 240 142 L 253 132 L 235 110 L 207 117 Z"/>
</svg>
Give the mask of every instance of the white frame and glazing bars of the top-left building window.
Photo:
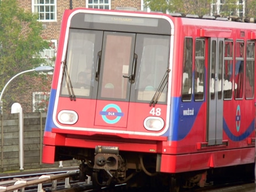
<svg viewBox="0 0 256 192">
<path fill-rule="evenodd" d="M 39 1 L 44 1 L 44 3 L 37 3 Z M 45 3 L 45 1 L 48 1 L 49 3 Z M 54 1 L 54 3 L 51 3 L 51 1 Z M 44 13 L 44 18 L 41 19 L 39 18 L 38 21 L 40 22 L 56 22 L 57 21 L 57 1 L 56 0 L 32 0 L 32 12 L 33 13 L 40 13 L 38 12 L 38 6 L 44 6 L 44 11 L 42 11 L 41 13 Z M 54 10 L 51 11 L 49 10 L 49 12 L 47 12 L 45 10 L 45 7 L 50 7 L 54 6 Z M 45 13 L 54 13 L 54 18 L 53 19 L 45 19 Z M 38 16 L 39 17 L 39 16 Z"/>
</svg>

